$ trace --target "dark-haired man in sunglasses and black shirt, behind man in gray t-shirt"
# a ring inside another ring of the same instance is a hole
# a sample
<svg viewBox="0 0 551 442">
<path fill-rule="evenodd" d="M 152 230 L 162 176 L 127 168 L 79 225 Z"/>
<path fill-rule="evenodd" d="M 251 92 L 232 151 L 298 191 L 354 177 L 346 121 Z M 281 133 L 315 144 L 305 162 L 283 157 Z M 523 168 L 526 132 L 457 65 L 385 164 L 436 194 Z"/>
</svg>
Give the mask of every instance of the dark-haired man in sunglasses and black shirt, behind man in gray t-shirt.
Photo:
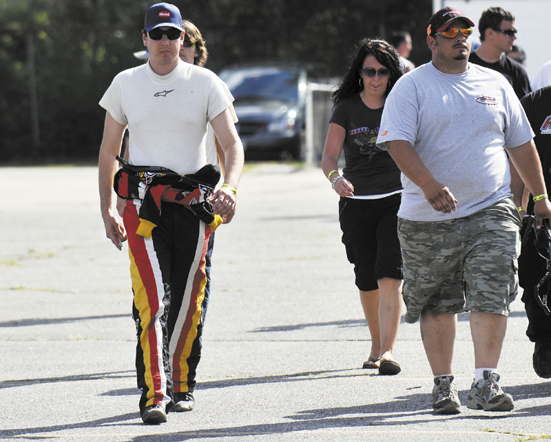
<svg viewBox="0 0 551 442">
<path fill-rule="evenodd" d="M 501 72 L 520 98 L 531 92 L 530 80 L 520 63 L 506 56 L 517 39 L 517 24 L 514 15 L 503 8 L 492 7 L 479 20 L 480 46 L 471 52 L 469 61 Z"/>
</svg>

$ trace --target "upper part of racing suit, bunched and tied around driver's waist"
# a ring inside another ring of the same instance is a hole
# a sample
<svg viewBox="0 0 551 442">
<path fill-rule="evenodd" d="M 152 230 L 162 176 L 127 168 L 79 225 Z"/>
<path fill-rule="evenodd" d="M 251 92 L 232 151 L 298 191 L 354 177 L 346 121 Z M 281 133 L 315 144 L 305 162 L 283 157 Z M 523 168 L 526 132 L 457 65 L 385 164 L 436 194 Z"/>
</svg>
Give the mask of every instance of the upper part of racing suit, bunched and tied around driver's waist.
<svg viewBox="0 0 551 442">
<path fill-rule="evenodd" d="M 211 231 L 222 224 L 222 217 L 213 213 L 209 202 L 220 180 L 217 166 L 205 165 L 196 173 L 179 175 L 165 167 L 134 166 L 123 158 L 117 156 L 117 159 L 123 168 L 115 173 L 115 193 L 125 200 L 142 200 L 138 235 L 151 238 L 160 222 L 161 202 L 183 205 Z"/>
</svg>

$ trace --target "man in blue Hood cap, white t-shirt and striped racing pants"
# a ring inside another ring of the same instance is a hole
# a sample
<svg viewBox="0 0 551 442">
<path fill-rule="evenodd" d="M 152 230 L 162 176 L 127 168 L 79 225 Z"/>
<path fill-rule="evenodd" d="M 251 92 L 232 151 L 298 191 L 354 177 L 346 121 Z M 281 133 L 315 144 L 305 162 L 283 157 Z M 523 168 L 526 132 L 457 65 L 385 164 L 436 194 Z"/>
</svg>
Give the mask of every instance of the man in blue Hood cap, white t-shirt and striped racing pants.
<svg viewBox="0 0 551 442">
<path fill-rule="evenodd" d="M 176 6 L 151 6 L 143 30 L 149 62 L 118 74 L 100 101 L 107 111 L 101 215 L 107 238 L 119 250 L 129 244 L 140 412 L 148 424 L 194 406 L 205 255 L 211 232 L 233 218 L 244 158 L 229 110 L 233 97 L 216 74 L 179 59 L 184 37 Z M 207 164 L 207 123 L 225 155 L 216 190 L 220 171 Z M 126 127 L 129 164 L 118 171 Z M 114 186 L 127 199 L 124 225 L 114 215 Z"/>
</svg>

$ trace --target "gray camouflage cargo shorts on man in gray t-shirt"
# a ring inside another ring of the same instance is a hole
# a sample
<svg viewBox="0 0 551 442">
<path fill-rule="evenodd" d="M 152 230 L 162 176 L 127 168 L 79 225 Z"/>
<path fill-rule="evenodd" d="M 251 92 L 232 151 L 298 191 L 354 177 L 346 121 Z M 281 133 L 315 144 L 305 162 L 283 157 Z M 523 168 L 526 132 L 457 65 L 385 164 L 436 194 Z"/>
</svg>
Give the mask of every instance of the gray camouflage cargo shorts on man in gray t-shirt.
<svg viewBox="0 0 551 442">
<path fill-rule="evenodd" d="M 455 220 L 399 218 L 406 322 L 422 311 L 508 315 L 519 286 L 520 227 L 508 198 Z"/>
</svg>

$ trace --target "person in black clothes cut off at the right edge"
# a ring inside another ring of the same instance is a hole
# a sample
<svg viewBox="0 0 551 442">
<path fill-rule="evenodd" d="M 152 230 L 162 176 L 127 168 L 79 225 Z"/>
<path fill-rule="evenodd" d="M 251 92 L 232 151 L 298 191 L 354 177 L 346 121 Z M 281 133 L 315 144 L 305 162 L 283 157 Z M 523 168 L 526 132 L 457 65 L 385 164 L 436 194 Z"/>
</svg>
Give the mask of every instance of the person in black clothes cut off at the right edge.
<svg viewBox="0 0 551 442">
<path fill-rule="evenodd" d="M 530 125 L 536 136 L 534 141 L 541 160 L 545 187 L 551 189 L 551 86 L 543 87 L 522 98 L 521 103 L 530 120 Z M 527 213 L 533 213 L 532 198 L 528 199 Z M 523 235 L 523 238 L 526 235 Z M 539 255 L 534 245 L 534 231 L 523 240 L 519 257 L 519 282 L 524 289 L 522 301 L 528 316 L 526 335 L 535 343 L 532 358 L 534 371 L 539 377 L 551 377 L 551 315 L 545 315 L 534 296 L 534 287 L 545 275 L 547 261 L 545 253 Z M 551 282 L 541 285 L 539 293 L 550 292 Z M 551 293 L 549 293 L 551 297 Z M 551 304 L 549 302 L 548 306 Z"/>
</svg>

